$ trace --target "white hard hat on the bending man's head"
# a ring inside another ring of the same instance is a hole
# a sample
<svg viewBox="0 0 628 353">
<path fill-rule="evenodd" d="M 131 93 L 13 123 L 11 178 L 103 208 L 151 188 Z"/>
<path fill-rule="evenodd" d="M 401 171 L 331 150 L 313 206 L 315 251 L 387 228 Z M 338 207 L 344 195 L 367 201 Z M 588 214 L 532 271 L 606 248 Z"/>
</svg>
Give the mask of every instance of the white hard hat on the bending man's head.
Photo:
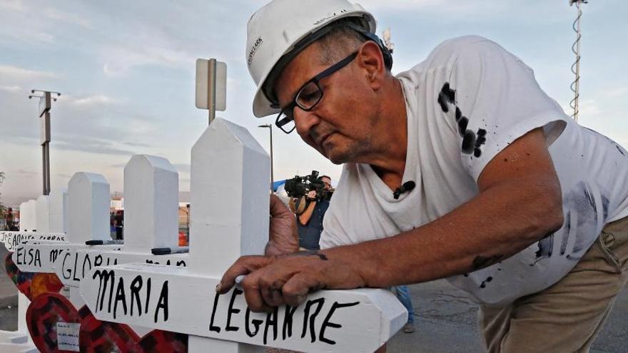
<svg viewBox="0 0 628 353">
<path fill-rule="evenodd" d="M 363 19 L 365 30 L 375 34 L 377 23 L 373 15 L 359 4 L 346 0 L 273 0 L 251 16 L 245 55 L 248 72 L 257 85 L 253 99 L 255 116 L 279 113 L 278 106 L 273 106 L 263 88 L 280 58 L 293 51 L 295 44 L 309 34 L 347 17 Z M 303 48 L 305 46 L 297 50 Z"/>
</svg>

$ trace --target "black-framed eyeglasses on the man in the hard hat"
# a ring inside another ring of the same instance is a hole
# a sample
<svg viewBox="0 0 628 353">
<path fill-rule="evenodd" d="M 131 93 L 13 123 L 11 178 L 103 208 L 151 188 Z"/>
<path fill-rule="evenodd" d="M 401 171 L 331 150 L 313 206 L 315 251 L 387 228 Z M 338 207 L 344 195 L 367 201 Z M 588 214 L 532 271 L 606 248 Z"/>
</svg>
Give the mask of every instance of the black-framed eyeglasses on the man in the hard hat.
<svg viewBox="0 0 628 353">
<path fill-rule="evenodd" d="M 293 132 L 296 127 L 293 115 L 294 109 L 299 107 L 304 111 L 311 111 L 318 104 L 318 102 L 323 99 L 323 88 L 320 87 L 320 80 L 347 66 L 348 63 L 353 61 L 355 56 L 358 56 L 358 51 L 351 53 L 346 58 L 343 58 L 343 60 L 338 61 L 338 63 L 325 68 L 325 70 L 314 76 L 310 79 L 310 81 L 305 82 L 305 84 L 303 84 L 303 86 L 301 86 L 301 88 L 297 91 L 292 103 L 285 106 L 285 108 L 283 108 L 278 114 L 277 119 L 275 120 L 275 125 L 284 133 Z"/>
</svg>

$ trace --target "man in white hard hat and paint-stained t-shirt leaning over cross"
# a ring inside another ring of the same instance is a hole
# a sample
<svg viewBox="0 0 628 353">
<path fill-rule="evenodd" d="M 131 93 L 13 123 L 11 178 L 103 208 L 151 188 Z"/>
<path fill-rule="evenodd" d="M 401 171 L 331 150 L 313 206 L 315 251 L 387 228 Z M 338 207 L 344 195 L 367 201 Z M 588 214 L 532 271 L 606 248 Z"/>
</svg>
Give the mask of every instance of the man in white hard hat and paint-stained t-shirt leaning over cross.
<svg viewBox="0 0 628 353">
<path fill-rule="evenodd" d="M 490 352 L 586 352 L 628 279 L 628 152 L 492 41 L 445 41 L 395 77 L 373 33 L 343 0 L 275 0 L 250 19 L 253 113 L 282 112 L 344 168 L 323 250 L 242 257 L 217 291 L 248 274 L 262 310 L 447 277 L 480 304 Z"/>
</svg>

